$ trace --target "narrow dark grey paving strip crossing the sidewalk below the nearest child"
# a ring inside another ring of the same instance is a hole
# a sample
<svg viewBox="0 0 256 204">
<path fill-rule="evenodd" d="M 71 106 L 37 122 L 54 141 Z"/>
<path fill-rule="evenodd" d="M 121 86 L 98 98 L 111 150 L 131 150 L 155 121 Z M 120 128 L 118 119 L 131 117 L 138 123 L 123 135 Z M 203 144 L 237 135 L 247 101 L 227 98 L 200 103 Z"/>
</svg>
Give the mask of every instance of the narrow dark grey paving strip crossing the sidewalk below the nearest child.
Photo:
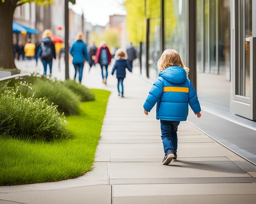
<svg viewBox="0 0 256 204">
<path fill-rule="evenodd" d="M 256 183 L 254 177 L 110 179 L 110 184 Z"/>
</svg>

